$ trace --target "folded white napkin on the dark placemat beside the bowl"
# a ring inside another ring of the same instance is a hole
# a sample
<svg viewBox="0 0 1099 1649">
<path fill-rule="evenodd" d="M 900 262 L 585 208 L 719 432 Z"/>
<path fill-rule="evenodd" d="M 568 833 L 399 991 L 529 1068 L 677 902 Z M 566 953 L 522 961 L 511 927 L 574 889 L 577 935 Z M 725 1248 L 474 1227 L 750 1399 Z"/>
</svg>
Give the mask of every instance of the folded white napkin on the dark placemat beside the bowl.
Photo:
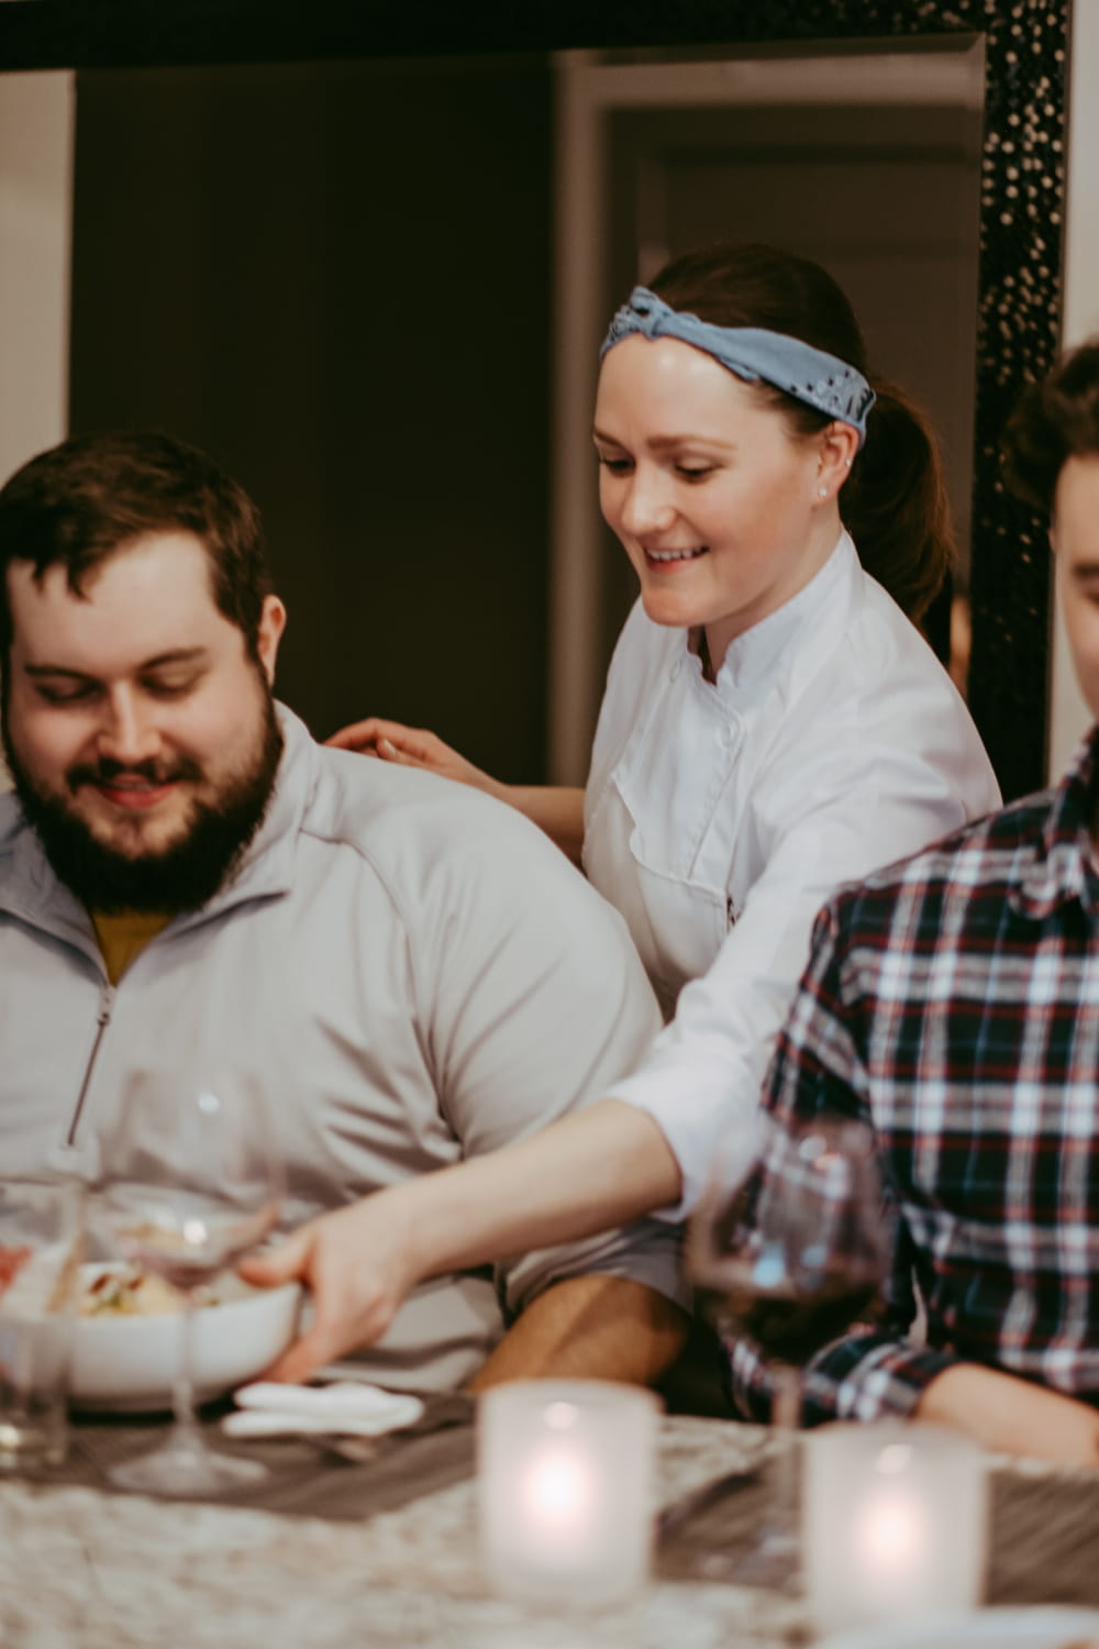
<svg viewBox="0 0 1099 1649">
<path fill-rule="evenodd" d="M 292 1436 L 338 1431 L 344 1436 L 381 1436 L 414 1425 L 423 1413 L 419 1397 L 384 1392 L 359 1380 L 334 1385 L 280 1385 L 257 1380 L 234 1393 L 237 1412 L 221 1421 L 234 1438 Z"/>
</svg>

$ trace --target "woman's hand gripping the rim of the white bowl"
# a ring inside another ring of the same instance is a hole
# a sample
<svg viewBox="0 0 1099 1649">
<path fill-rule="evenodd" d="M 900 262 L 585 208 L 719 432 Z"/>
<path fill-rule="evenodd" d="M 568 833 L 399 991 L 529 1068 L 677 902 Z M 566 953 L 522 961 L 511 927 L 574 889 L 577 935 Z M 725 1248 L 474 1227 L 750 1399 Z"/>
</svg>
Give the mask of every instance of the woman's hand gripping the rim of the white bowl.
<svg viewBox="0 0 1099 1649">
<path fill-rule="evenodd" d="M 419 1281 L 399 1191 L 321 1214 L 237 1270 L 260 1288 L 300 1281 L 313 1294 L 310 1329 L 272 1364 L 267 1380 L 308 1380 L 323 1364 L 371 1346 Z"/>
</svg>

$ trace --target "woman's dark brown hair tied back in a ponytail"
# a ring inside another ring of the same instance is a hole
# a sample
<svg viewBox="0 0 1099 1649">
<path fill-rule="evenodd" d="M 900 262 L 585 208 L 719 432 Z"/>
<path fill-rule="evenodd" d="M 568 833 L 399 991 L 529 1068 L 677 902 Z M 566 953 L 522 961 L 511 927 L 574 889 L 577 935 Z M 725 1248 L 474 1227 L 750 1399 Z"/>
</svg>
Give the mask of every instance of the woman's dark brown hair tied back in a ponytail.
<svg viewBox="0 0 1099 1649">
<path fill-rule="evenodd" d="M 918 622 L 956 557 L 939 447 L 924 414 L 868 369 L 855 312 L 832 275 L 794 252 L 730 241 L 676 259 L 649 285 L 674 310 L 715 327 L 763 327 L 801 338 L 867 378 L 877 402 L 840 513 L 867 572 Z M 766 383 L 753 389 L 781 406 L 797 434 L 830 422 Z"/>
</svg>

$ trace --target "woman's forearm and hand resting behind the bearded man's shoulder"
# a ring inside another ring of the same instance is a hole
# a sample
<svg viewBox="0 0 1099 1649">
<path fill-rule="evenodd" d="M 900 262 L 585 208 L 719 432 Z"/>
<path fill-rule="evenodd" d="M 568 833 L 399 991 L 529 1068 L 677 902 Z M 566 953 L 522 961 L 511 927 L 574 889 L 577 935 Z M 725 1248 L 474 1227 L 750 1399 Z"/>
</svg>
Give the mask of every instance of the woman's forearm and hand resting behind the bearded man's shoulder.
<svg viewBox="0 0 1099 1649">
<path fill-rule="evenodd" d="M 379 716 L 367 716 L 366 721 L 341 727 L 326 744 L 339 750 L 376 755 L 382 762 L 422 767 L 442 778 L 453 778 L 461 785 L 473 785 L 475 790 L 484 790 L 486 795 L 524 813 L 573 864 L 580 864 L 583 846 L 583 790 L 580 788 L 503 785 L 491 773 L 466 762 L 465 755 L 443 744 L 433 732 L 423 727 L 405 727 L 404 722 L 382 721 Z"/>
</svg>

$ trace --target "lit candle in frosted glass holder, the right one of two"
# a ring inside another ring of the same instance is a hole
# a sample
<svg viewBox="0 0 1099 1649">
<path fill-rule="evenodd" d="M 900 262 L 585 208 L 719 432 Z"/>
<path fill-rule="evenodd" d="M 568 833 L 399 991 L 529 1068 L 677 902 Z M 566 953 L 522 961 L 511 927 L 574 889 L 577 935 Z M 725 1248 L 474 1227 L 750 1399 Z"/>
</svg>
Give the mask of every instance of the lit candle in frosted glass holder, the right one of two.
<svg viewBox="0 0 1099 1649">
<path fill-rule="evenodd" d="M 985 1473 L 969 1438 L 882 1421 L 806 1438 L 804 1576 L 819 1631 L 970 1609 L 985 1562 Z"/>
</svg>

